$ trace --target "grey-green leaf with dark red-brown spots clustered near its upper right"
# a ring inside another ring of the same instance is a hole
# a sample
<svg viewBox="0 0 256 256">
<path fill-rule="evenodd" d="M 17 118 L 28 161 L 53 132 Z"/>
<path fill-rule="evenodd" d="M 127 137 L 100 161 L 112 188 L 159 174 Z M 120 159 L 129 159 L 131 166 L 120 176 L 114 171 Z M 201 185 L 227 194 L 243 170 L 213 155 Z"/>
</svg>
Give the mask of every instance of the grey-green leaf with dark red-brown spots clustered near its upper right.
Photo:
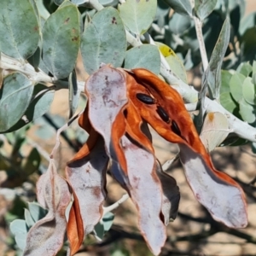
<svg viewBox="0 0 256 256">
<path fill-rule="evenodd" d="M 125 27 L 119 12 L 104 8 L 85 26 L 81 53 L 87 73 L 94 73 L 102 62 L 121 67 L 126 50 Z"/>
</svg>

